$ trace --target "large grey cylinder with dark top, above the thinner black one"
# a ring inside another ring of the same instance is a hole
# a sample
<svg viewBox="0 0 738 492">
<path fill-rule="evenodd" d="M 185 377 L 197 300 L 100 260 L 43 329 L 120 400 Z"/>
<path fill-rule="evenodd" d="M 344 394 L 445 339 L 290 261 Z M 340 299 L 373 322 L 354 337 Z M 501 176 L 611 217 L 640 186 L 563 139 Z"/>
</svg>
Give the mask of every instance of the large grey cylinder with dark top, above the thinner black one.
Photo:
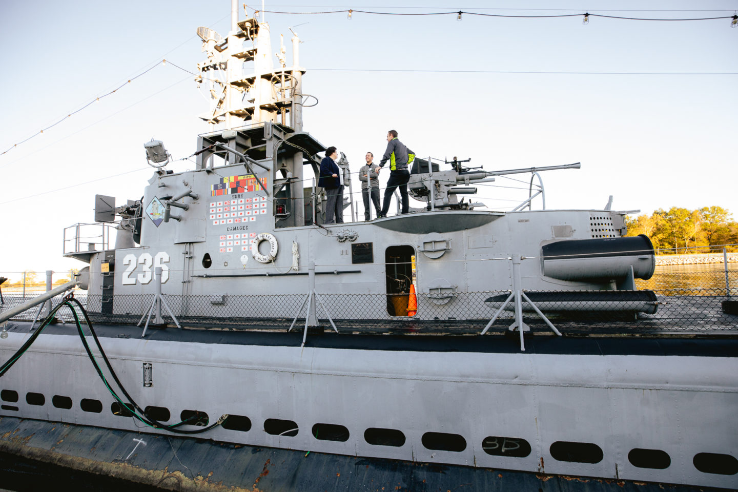
<svg viewBox="0 0 738 492">
<path fill-rule="evenodd" d="M 543 274 L 559 280 L 649 279 L 656 268 L 653 244 L 635 238 L 565 240 L 542 247 Z"/>
</svg>

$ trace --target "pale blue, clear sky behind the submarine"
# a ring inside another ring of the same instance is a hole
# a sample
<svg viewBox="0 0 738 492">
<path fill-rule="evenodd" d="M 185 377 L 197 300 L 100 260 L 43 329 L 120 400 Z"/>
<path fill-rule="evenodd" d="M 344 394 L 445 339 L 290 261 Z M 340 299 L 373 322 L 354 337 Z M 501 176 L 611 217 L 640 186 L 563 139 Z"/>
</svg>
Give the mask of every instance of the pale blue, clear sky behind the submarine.
<svg viewBox="0 0 738 492">
<path fill-rule="evenodd" d="M 734 15 L 738 1 L 520 5 L 283 0 L 266 10 L 703 18 Z M 489 171 L 581 162 L 541 173 L 547 209 L 601 209 L 613 195 L 618 210 L 718 205 L 738 217 L 738 28 L 730 19 L 263 15 L 273 52 L 285 35 L 288 62 L 289 27 L 300 35 L 303 91 L 318 101 L 304 110 L 304 129 L 345 152 L 354 172 L 367 151 L 383 153 L 392 128 L 418 156 L 471 158 Z M 197 118 L 207 99 L 182 70 L 204 58 L 199 26 L 227 35 L 230 1 L 0 4 L 0 152 L 8 150 L 0 155 L 0 275 L 84 266 L 62 257 L 64 228 L 93 222 L 95 194 L 118 204 L 141 197 L 152 174 L 148 140 L 165 143 L 176 159 L 168 169 L 194 168 L 179 159 L 196 150 L 197 134 L 217 129 Z M 511 177 L 479 186 L 475 201 L 515 207 L 530 174 Z"/>
</svg>

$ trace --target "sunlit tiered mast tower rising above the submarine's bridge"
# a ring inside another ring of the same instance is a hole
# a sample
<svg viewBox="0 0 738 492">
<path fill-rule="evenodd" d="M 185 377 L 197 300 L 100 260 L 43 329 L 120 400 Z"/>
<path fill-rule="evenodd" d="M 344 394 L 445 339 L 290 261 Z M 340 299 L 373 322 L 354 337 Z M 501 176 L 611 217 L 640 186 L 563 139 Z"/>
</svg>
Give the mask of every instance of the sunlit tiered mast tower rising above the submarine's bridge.
<svg viewBox="0 0 738 492">
<path fill-rule="evenodd" d="M 199 117 L 218 128 L 200 136 L 197 168 L 212 167 L 213 156 L 225 164 L 246 157 L 263 162 L 275 184 L 278 226 L 305 225 L 305 197 L 311 192 L 304 188 L 303 167 L 311 164 L 311 173 L 317 172 L 320 161 L 315 156 L 325 147 L 303 132 L 300 38 L 291 29 L 288 66 L 283 37 L 279 51 L 272 52 L 269 24 L 263 13 L 261 20 L 257 16 L 239 20 L 238 4 L 231 0 L 225 38 L 207 27 L 197 29 L 206 58 L 197 65 L 196 81 L 207 88 L 210 100 L 209 110 Z"/>
</svg>

